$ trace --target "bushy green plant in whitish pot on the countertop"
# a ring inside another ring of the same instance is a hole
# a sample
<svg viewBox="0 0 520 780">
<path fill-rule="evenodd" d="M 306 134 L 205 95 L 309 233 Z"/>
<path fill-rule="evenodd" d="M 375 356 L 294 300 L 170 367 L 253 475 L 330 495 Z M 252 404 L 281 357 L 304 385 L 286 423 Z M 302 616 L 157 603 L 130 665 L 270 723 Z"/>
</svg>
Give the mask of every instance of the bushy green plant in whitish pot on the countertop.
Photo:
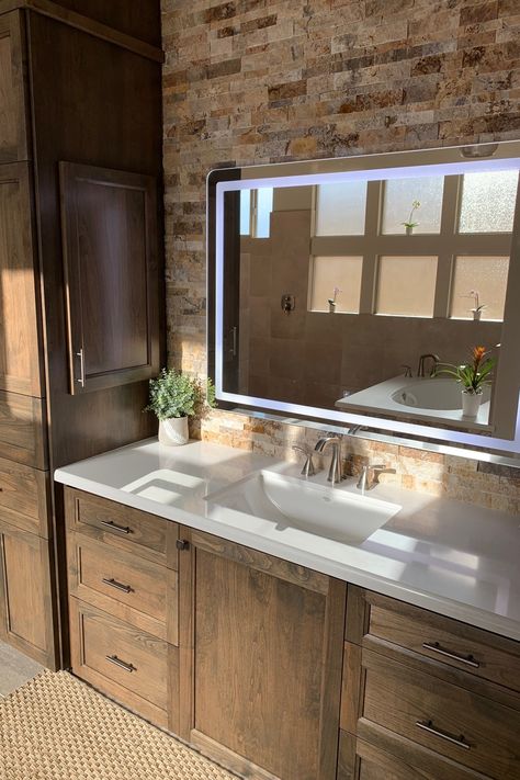
<svg viewBox="0 0 520 780">
<path fill-rule="evenodd" d="M 208 378 L 204 388 L 197 377 L 176 369 L 162 369 L 149 384 L 149 404 L 145 411 L 152 411 L 159 420 L 159 442 L 168 446 L 185 444 L 190 438 L 188 418 L 215 406 L 212 381 Z"/>
</svg>

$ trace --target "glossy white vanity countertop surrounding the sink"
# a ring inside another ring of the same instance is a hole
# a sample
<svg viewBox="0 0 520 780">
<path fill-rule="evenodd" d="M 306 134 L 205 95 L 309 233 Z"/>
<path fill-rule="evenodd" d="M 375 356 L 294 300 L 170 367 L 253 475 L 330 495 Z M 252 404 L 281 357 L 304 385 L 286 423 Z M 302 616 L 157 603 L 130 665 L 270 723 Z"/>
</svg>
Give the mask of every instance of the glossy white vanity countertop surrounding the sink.
<svg viewBox="0 0 520 780">
<path fill-rule="evenodd" d="M 235 448 L 207 442 L 167 448 L 149 439 L 58 468 L 55 478 L 520 640 L 518 516 L 378 485 L 372 498 L 403 508 L 365 542 L 351 546 L 204 500 L 261 468 L 299 475 L 295 464 Z M 312 479 L 326 484 L 326 473 Z M 329 489 L 359 495 L 354 479 Z"/>
</svg>

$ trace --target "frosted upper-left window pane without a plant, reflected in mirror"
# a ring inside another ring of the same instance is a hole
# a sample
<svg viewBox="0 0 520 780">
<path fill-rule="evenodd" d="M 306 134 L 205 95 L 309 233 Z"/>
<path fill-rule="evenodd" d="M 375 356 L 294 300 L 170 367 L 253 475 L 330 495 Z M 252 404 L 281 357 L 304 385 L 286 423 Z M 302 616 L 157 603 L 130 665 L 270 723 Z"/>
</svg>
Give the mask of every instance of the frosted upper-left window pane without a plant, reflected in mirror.
<svg viewBox="0 0 520 780">
<path fill-rule="evenodd" d="M 365 181 L 319 184 L 316 190 L 317 236 L 362 236 L 364 234 Z"/>
</svg>

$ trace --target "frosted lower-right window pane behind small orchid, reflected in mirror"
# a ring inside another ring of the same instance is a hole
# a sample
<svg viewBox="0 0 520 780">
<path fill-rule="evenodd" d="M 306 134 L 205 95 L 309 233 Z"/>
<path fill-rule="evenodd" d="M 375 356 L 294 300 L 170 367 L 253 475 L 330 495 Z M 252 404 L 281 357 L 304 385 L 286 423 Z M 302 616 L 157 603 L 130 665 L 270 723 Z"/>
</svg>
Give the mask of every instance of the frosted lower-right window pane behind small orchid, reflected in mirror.
<svg viewBox="0 0 520 780">
<path fill-rule="evenodd" d="M 508 257 L 457 257 L 453 268 L 451 316 L 473 319 L 472 309 L 483 305 L 481 319 L 504 319 Z"/>
</svg>

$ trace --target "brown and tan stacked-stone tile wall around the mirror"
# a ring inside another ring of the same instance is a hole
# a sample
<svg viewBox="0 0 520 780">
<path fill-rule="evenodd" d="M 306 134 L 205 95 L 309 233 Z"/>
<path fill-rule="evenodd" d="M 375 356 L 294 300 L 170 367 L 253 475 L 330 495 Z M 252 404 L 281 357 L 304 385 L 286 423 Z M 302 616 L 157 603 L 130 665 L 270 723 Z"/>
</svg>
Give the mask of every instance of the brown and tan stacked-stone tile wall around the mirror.
<svg viewBox="0 0 520 780">
<path fill-rule="evenodd" d="M 520 137 L 519 0 L 162 0 L 168 353 L 205 372 L 212 168 Z M 215 410 L 194 433 L 295 460 L 310 428 Z M 347 470 L 520 510 L 520 474 L 347 438 Z M 518 475 L 518 476 L 517 476 Z"/>
</svg>

